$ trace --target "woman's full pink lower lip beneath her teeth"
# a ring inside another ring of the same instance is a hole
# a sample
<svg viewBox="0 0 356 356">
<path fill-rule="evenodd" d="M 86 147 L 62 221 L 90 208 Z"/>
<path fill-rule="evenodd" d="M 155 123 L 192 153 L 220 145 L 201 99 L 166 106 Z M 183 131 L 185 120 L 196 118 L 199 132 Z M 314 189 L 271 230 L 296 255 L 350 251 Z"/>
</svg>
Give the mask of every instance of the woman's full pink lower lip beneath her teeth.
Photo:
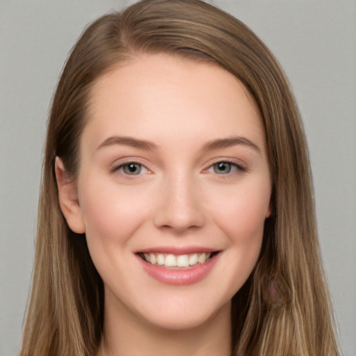
<svg viewBox="0 0 356 356">
<path fill-rule="evenodd" d="M 161 283 L 174 286 L 187 286 L 189 284 L 200 282 L 209 274 L 219 257 L 220 253 L 204 262 L 204 264 L 197 264 L 191 268 L 179 270 L 149 264 L 148 262 L 143 261 L 140 256 L 137 256 L 138 261 L 148 275 Z"/>
</svg>

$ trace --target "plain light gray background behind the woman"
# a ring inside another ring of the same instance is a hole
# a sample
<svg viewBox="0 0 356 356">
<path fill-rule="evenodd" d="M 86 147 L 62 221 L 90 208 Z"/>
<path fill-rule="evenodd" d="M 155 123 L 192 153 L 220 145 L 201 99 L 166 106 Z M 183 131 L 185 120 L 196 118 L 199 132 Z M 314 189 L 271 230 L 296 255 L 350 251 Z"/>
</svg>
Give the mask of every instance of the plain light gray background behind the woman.
<svg viewBox="0 0 356 356">
<path fill-rule="evenodd" d="M 52 92 L 83 27 L 127 0 L 0 0 L 0 355 L 19 350 Z M 282 63 L 305 122 L 343 355 L 356 355 L 356 2 L 216 0 Z"/>
</svg>

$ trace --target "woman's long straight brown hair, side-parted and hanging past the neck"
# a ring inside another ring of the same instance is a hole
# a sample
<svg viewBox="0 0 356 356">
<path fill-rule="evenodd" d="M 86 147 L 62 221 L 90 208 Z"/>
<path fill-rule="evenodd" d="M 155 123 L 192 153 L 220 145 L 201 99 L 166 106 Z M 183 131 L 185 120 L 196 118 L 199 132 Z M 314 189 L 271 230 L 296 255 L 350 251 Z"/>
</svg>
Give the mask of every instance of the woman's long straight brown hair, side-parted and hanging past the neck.
<svg viewBox="0 0 356 356">
<path fill-rule="evenodd" d="M 56 156 L 74 177 L 90 88 L 138 54 L 208 60 L 231 72 L 261 112 L 272 217 L 257 266 L 232 300 L 233 355 L 339 355 L 316 231 L 300 114 L 280 65 L 247 26 L 200 0 L 144 0 L 97 19 L 72 50 L 47 130 L 38 236 L 21 356 L 92 356 L 102 337 L 104 289 L 85 236 L 60 211 Z"/>
</svg>

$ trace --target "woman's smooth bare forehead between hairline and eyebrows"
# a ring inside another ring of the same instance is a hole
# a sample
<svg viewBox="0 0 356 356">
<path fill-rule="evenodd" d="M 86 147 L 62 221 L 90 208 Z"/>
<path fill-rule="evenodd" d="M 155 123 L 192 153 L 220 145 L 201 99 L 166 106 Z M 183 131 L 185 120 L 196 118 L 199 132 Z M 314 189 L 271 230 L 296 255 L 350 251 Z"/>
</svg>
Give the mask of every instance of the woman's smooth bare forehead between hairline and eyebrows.
<svg viewBox="0 0 356 356">
<path fill-rule="evenodd" d="M 234 75 L 168 54 L 137 57 L 101 76 L 90 92 L 88 132 L 98 144 L 113 134 L 152 140 L 248 134 L 264 145 L 257 106 Z"/>
</svg>

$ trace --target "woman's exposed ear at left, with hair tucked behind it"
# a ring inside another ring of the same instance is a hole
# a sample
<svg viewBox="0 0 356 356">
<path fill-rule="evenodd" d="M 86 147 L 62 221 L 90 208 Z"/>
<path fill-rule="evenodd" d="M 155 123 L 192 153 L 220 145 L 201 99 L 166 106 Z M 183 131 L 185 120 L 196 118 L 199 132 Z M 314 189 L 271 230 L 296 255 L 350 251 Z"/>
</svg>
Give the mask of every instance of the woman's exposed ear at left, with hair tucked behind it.
<svg viewBox="0 0 356 356">
<path fill-rule="evenodd" d="M 86 232 L 86 226 L 81 215 L 76 179 L 70 177 L 59 157 L 56 157 L 55 172 L 60 210 L 70 229 L 76 234 L 83 234 Z"/>
</svg>

